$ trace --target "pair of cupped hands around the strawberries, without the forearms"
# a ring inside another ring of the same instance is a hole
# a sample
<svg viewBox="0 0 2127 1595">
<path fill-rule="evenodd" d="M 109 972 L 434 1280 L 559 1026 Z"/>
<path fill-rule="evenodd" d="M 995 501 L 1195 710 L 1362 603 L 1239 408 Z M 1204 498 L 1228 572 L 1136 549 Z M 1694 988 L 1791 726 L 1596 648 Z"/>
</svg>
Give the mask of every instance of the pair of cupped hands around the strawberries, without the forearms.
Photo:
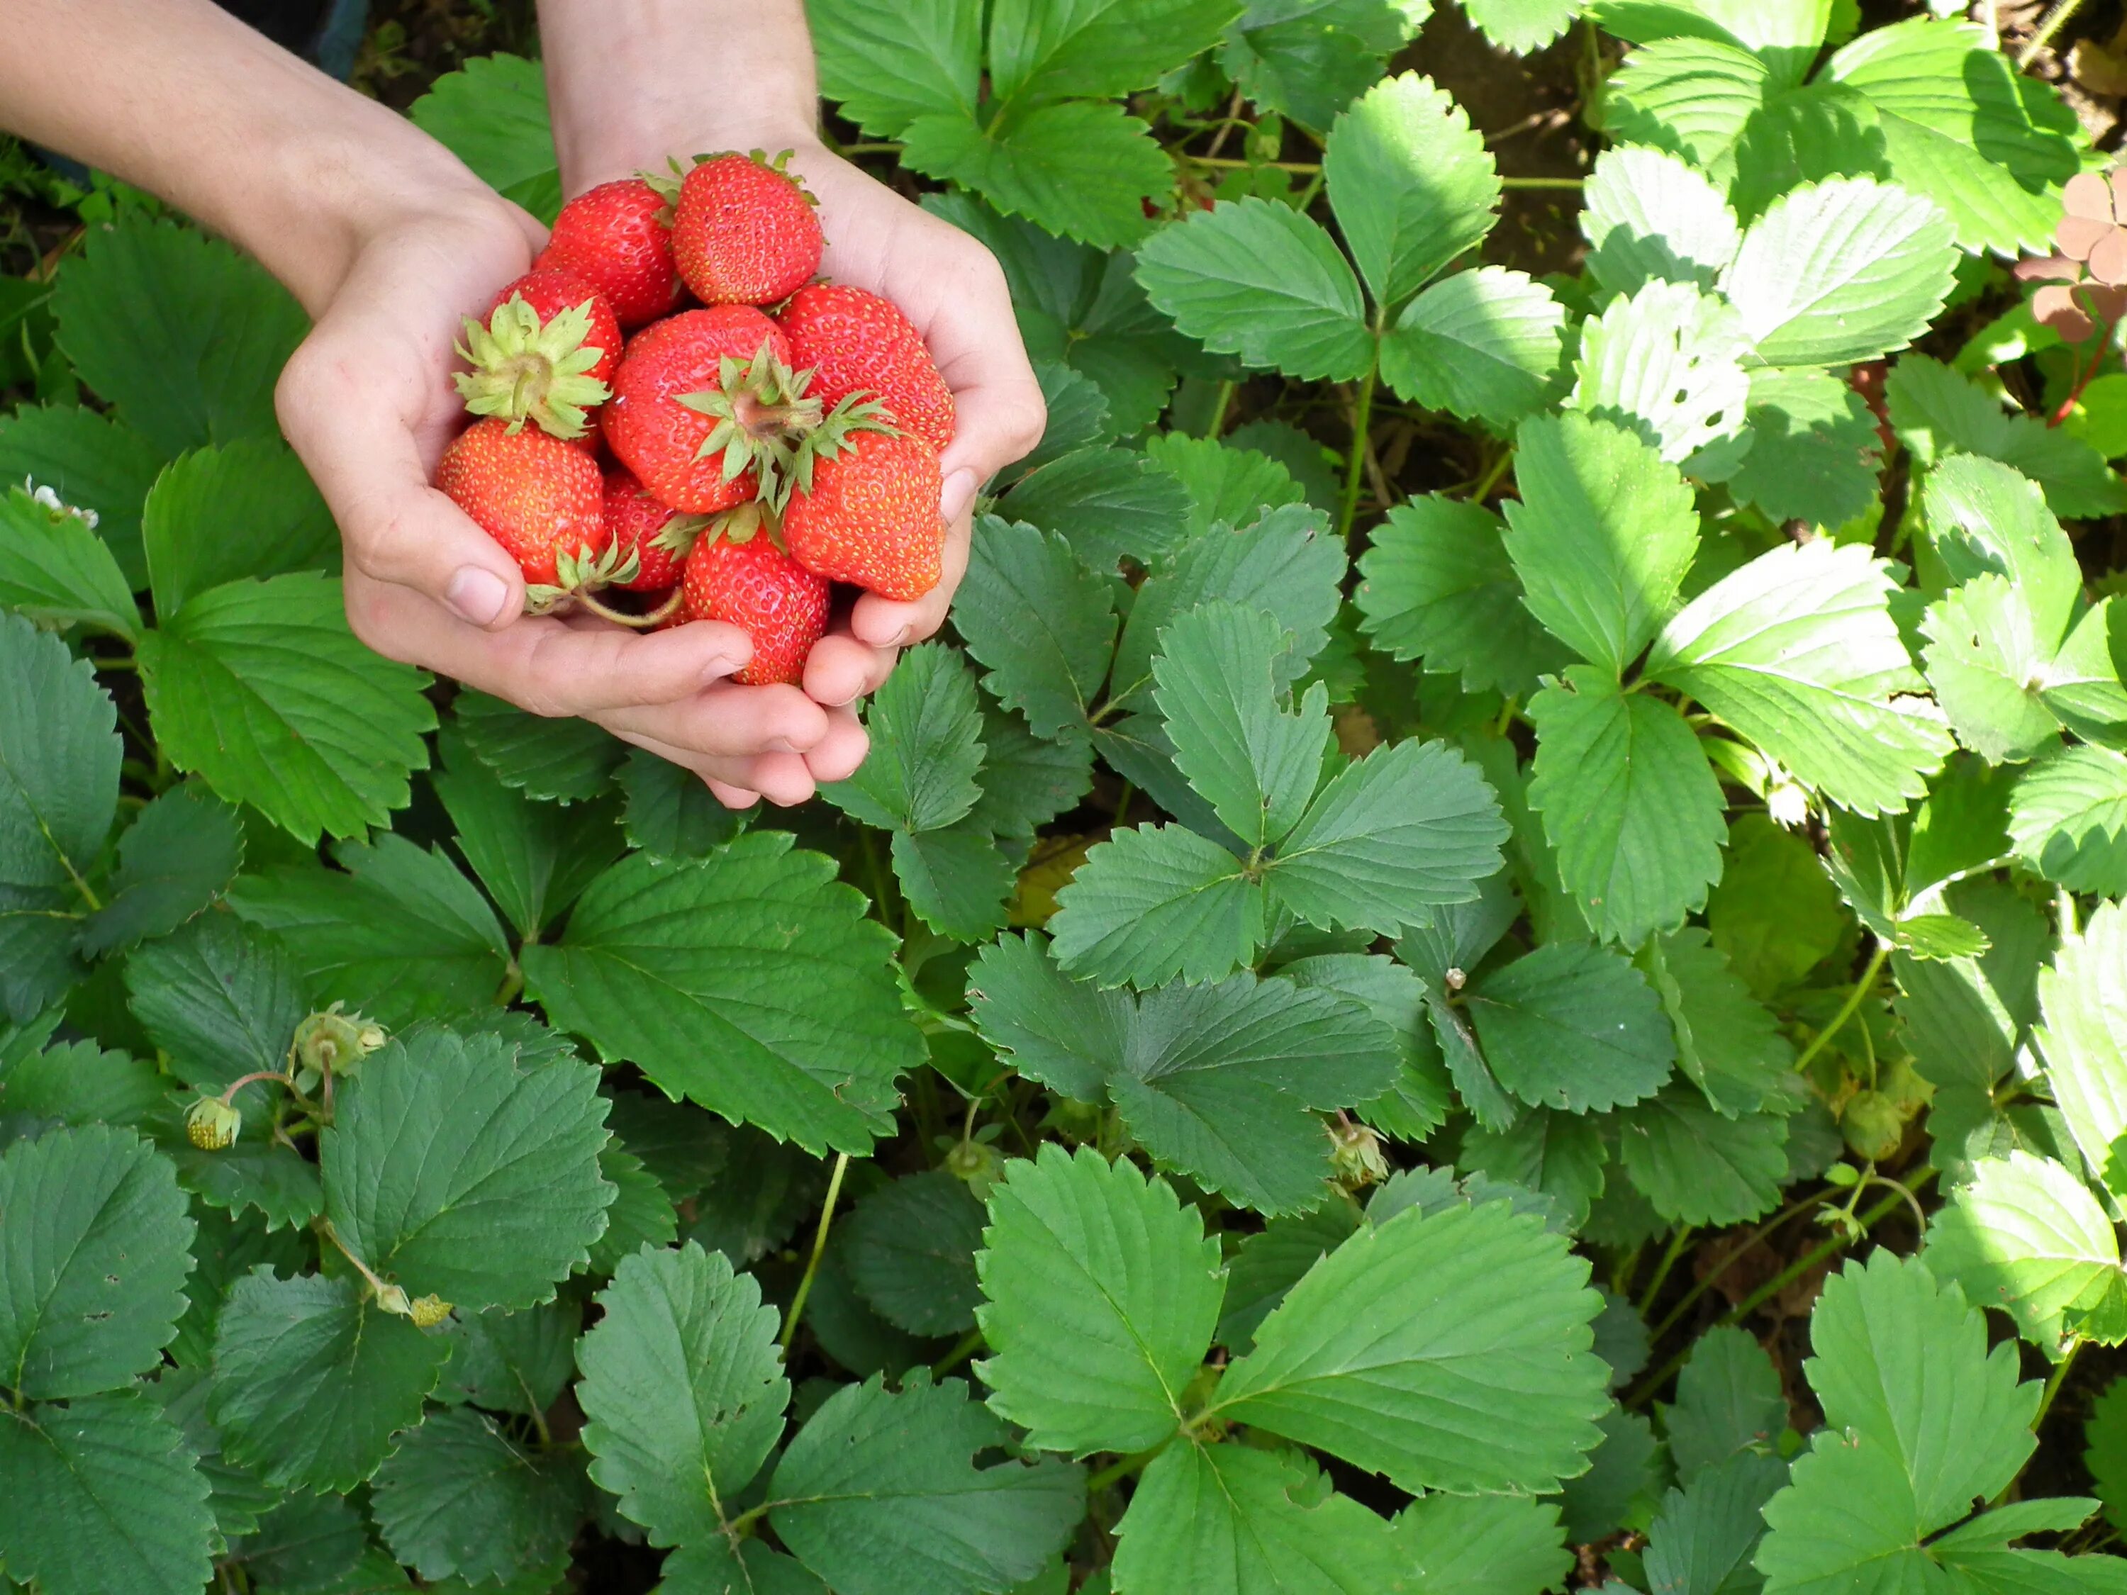
<svg viewBox="0 0 2127 1595">
<path fill-rule="evenodd" d="M 436 196 L 357 240 L 277 391 L 281 427 L 340 523 L 347 617 L 370 649 L 451 676 L 534 715 L 583 717 L 693 770 L 719 802 L 800 804 L 844 780 L 868 740 L 855 704 L 900 649 L 932 636 L 968 568 L 974 498 L 1040 440 L 1044 408 L 991 253 L 817 140 L 791 166 L 819 200 L 821 272 L 902 306 L 953 389 L 957 436 L 942 455 L 944 581 L 912 604 L 866 593 L 813 649 L 802 687 L 740 687 L 751 644 L 696 621 L 636 634 L 589 615 L 523 615 L 523 574 L 430 487 L 464 425 L 451 387 L 466 315 L 532 268 L 547 230 L 485 187 Z M 727 147 L 723 140 L 713 147 Z M 642 149 L 664 168 L 693 149 Z M 568 174 L 570 194 L 623 170 Z"/>
</svg>

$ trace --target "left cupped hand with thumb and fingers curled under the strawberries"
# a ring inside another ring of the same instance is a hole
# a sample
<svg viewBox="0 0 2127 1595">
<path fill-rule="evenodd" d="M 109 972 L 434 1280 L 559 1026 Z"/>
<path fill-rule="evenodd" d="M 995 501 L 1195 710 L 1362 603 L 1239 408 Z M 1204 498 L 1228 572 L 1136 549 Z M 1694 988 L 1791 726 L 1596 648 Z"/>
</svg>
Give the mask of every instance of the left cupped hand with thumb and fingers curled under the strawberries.
<svg viewBox="0 0 2127 1595">
<path fill-rule="evenodd" d="M 795 804 L 864 759 L 864 727 L 798 687 L 738 687 L 747 634 L 698 621 L 638 636 L 523 615 L 523 572 L 430 487 L 464 410 L 462 319 L 523 274 L 545 230 L 466 179 L 364 225 L 277 391 L 281 427 L 347 544 L 347 617 L 385 657 L 534 715 L 579 715 L 700 774 L 725 804 Z M 847 700 L 844 700 L 847 704 Z"/>
</svg>

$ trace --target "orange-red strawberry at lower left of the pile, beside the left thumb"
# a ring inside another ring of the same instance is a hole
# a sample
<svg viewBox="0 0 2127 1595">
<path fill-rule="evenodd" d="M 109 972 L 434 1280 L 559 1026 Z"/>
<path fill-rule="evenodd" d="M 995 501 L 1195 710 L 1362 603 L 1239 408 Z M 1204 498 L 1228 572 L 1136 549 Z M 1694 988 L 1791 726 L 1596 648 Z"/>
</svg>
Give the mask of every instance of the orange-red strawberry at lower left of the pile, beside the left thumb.
<svg viewBox="0 0 2127 1595">
<path fill-rule="evenodd" d="M 510 432 L 487 419 L 442 451 L 436 487 L 525 572 L 525 608 L 604 581 L 613 572 L 598 464 L 538 427 Z"/>
</svg>

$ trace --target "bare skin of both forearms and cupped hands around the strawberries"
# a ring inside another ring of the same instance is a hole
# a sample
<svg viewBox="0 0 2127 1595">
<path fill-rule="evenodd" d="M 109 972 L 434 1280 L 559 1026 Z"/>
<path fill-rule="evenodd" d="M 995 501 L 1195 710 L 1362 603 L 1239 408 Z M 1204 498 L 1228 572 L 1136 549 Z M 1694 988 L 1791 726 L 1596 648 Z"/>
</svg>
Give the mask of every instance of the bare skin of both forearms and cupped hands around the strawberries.
<svg viewBox="0 0 2127 1595">
<path fill-rule="evenodd" d="M 968 566 L 974 496 L 1042 432 L 995 259 L 834 157 L 813 125 L 800 0 L 542 0 L 566 194 L 715 149 L 795 151 L 836 281 L 895 300 L 953 387 L 947 578 L 866 595 L 800 687 L 740 687 L 747 636 L 630 634 L 525 617 L 523 574 L 430 487 L 462 423 L 459 321 L 545 242 L 404 117 L 208 0 L 0 0 L 0 125 L 145 187 L 249 249 L 315 319 L 277 391 L 281 430 L 347 544 L 347 615 L 383 655 L 538 715 L 581 715 L 700 774 L 730 806 L 798 804 L 866 753 L 853 704 L 932 636 Z"/>
</svg>

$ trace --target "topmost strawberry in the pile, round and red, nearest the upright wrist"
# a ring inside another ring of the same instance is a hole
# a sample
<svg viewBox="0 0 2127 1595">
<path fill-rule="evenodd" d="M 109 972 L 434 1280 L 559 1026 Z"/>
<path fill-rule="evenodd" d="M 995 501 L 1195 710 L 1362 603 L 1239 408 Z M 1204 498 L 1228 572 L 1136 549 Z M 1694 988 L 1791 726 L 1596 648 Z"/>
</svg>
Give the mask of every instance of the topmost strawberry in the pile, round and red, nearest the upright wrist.
<svg viewBox="0 0 2127 1595">
<path fill-rule="evenodd" d="M 785 162 L 710 155 L 681 179 L 672 259 L 702 304 L 774 304 L 819 270 L 819 215 Z"/>
</svg>

